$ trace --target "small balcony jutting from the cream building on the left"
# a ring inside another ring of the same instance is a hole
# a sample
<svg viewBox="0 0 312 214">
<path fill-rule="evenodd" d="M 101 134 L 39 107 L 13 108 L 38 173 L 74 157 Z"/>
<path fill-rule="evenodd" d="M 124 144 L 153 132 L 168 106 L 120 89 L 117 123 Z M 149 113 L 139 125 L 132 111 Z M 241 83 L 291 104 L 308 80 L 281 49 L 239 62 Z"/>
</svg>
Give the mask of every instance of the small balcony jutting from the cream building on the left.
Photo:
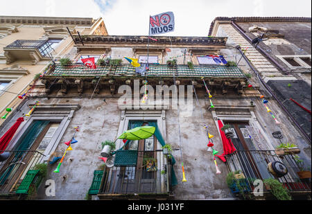
<svg viewBox="0 0 312 214">
<path fill-rule="evenodd" d="M 15 62 L 15 60 L 31 60 L 37 64 L 44 58 L 49 59 L 51 44 L 49 40 L 23 40 L 17 39 L 15 42 L 3 48 L 6 56 L 6 64 Z"/>
</svg>

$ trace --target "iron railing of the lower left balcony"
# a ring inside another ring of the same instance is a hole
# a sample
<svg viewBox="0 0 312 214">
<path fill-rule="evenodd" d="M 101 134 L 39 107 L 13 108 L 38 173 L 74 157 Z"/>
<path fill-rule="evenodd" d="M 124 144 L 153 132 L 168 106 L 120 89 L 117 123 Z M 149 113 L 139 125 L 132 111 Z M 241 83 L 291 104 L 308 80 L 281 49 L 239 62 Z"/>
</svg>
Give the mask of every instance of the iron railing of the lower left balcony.
<svg viewBox="0 0 312 214">
<path fill-rule="evenodd" d="M 0 193 L 15 193 L 28 170 L 44 162 L 44 154 L 33 150 L 0 151 Z"/>
</svg>

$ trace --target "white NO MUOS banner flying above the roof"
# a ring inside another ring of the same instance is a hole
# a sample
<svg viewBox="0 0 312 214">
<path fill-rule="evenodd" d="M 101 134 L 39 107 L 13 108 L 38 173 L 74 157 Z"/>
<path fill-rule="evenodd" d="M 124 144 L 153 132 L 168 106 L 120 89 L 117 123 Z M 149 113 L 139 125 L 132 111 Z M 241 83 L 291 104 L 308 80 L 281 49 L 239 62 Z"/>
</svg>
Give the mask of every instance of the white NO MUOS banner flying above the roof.
<svg viewBox="0 0 312 214">
<path fill-rule="evenodd" d="M 175 17 L 173 12 L 163 12 L 150 17 L 150 35 L 168 33 L 175 30 Z"/>
</svg>

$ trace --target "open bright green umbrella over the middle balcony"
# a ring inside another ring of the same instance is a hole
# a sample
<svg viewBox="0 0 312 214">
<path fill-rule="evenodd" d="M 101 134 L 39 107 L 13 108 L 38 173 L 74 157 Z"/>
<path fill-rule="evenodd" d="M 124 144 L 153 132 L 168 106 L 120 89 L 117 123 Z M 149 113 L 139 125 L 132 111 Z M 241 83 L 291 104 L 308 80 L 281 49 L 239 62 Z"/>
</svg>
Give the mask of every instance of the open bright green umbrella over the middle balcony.
<svg viewBox="0 0 312 214">
<path fill-rule="evenodd" d="M 141 139 L 148 139 L 150 136 L 152 136 L 155 132 L 155 127 L 153 126 L 141 126 L 136 127 L 132 130 L 128 130 L 123 132 L 121 136 L 119 136 L 119 139 L 127 139 L 131 141 L 141 140 Z"/>
</svg>

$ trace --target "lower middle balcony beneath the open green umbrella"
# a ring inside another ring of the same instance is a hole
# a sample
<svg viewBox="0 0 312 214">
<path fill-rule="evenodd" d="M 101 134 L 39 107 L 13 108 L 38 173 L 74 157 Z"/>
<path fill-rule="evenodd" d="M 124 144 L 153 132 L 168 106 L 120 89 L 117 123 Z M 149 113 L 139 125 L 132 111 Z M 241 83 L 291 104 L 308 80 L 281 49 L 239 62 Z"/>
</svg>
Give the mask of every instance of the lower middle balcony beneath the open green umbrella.
<svg viewBox="0 0 312 214">
<path fill-rule="evenodd" d="M 137 152 L 137 162 L 131 165 L 125 163 L 128 166 L 122 166 L 123 161 L 116 154 L 114 167 L 105 168 L 103 172 L 98 197 L 168 199 L 171 193 L 171 163 L 167 160 L 166 164 L 161 164 L 161 152 Z M 146 160 L 153 160 L 153 167 L 148 168 Z"/>
</svg>

